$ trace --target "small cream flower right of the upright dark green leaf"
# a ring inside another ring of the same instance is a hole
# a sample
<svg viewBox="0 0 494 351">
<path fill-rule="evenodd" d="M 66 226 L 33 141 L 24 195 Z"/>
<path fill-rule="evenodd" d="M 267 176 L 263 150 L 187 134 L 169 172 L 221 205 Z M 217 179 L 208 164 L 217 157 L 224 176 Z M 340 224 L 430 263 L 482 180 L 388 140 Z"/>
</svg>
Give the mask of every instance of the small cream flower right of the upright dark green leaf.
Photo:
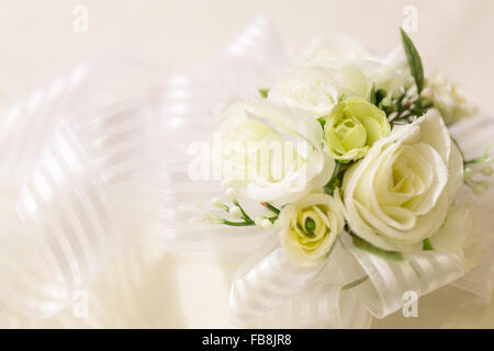
<svg viewBox="0 0 494 351">
<path fill-rule="evenodd" d="M 434 102 L 447 124 L 470 117 L 478 112 L 478 106 L 468 101 L 463 91 L 449 82 L 440 73 L 435 73 L 427 79 L 426 95 Z"/>
</svg>

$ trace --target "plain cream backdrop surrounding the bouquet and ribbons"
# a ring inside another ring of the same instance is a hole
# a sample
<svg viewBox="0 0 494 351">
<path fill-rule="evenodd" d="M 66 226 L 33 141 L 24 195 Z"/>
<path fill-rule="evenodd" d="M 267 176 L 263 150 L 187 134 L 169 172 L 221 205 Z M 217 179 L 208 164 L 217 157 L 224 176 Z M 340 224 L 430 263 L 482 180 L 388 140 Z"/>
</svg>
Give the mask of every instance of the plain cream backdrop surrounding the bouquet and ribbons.
<svg viewBox="0 0 494 351">
<path fill-rule="evenodd" d="M 72 31 L 72 9 L 78 4 L 89 9 L 88 33 Z M 407 4 L 418 9 L 418 32 L 412 36 L 426 67 L 440 67 L 484 111 L 493 111 L 494 1 L 490 0 L 1 0 L 0 102 L 5 104 L 108 48 L 124 47 L 170 61 L 206 59 L 259 13 L 274 22 L 291 50 L 325 33 L 350 34 L 369 47 L 388 50 L 397 43 Z M 240 257 L 167 253 L 146 263 L 138 288 L 106 292 L 105 305 L 97 315 L 90 310 L 89 319 L 74 319 L 67 312 L 47 321 L 0 319 L 0 326 L 232 327 L 225 314 L 227 293 L 240 261 Z M 420 299 L 419 318 L 396 314 L 373 326 L 494 328 L 494 304 L 485 309 L 456 306 L 458 310 L 439 316 L 440 305 L 440 298 L 427 296 Z M 444 306 L 446 312 L 449 307 Z"/>
</svg>

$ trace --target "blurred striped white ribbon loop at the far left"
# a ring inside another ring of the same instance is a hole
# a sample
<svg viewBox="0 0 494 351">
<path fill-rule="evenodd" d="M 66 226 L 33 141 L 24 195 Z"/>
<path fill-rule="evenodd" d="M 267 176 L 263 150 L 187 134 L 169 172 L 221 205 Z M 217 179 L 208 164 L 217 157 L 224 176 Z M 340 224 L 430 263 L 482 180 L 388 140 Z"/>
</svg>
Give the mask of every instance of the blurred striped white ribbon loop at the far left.
<svg viewBox="0 0 494 351">
<path fill-rule="evenodd" d="M 49 317 L 74 301 L 122 242 L 111 193 L 149 172 L 141 98 L 156 82 L 132 59 L 108 64 L 14 103 L 1 128 L 0 299 L 12 310 Z"/>
</svg>

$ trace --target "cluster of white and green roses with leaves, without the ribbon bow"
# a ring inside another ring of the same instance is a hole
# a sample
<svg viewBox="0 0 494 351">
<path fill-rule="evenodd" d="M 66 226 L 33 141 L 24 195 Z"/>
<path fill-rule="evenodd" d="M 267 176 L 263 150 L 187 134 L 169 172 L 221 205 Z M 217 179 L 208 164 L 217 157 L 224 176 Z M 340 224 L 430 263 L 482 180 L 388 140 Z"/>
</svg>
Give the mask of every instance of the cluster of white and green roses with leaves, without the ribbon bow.
<svg viewBox="0 0 494 351">
<path fill-rule="evenodd" d="M 382 58 L 348 39 L 317 38 L 259 98 L 227 101 L 215 133 L 256 147 L 222 149 L 217 157 L 237 176 L 254 176 L 226 177 L 233 205 L 213 204 L 234 219 L 210 219 L 279 227 L 299 265 L 325 260 L 343 233 L 386 257 L 447 242 L 440 227 L 464 168 L 447 125 L 475 109 L 439 75 L 424 77 L 403 31 L 402 44 Z M 274 141 L 290 145 L 282 162 L 269 154 Z M 267 162 L 248 157 L 263 148 Z M 237 199 L 260 202 L 269 214 L 252 219 Z"/>
</svg>

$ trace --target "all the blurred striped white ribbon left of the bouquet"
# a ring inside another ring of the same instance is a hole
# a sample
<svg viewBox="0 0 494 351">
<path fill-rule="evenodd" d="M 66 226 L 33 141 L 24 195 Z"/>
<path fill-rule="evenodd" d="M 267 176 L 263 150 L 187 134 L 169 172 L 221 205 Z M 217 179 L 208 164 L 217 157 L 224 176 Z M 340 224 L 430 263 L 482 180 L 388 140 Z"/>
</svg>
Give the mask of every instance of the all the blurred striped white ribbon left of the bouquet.
<svg viewBox="0 0 494 351">
<path fill-rule="evenodd" d="M 43 317 L 66 306 L 123 240 L 114 213 L 120 201 L 133 199 L 120 199 L 117 189 L 154 188 L 156 160 L 188 161 L 189 144 L 206 135 L 228 94 L 256 93 L 287 64 L 270 22 L 260 16 L 218 59 L 186 75 L 165 75 L 161 63 L 117 52 L 14 102 L 0 120 L 1 305 Z M 247 234 L 214 240 L 214 230 L 191 226 L 182 233 L 188 220 L 179 220 L 180 202 L 194 188 L 167 197 L 170 189 L 179 192 L 177 178 L 166 170 L 160 176 L 169 247 L 252 245 Z"/>
</svg>

